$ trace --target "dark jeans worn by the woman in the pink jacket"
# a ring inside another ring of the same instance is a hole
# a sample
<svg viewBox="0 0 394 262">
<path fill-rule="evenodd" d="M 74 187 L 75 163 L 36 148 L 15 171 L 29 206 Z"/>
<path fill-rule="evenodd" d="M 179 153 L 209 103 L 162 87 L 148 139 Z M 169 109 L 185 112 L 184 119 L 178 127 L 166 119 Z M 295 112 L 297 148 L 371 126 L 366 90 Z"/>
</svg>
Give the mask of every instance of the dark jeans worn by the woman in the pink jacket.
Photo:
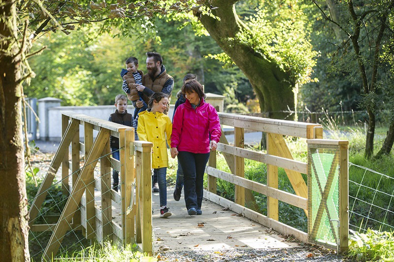
<svg viewBox="0 0 394 262">
<path fill-rule="evenodd" d="M 178 161 L 183 171 L 183 192 L 186 208 L 201 209 L 203 196 L 203 178 L 209 153 L 195 154 L 186 151 L 178 153 Z"/>
</svg>

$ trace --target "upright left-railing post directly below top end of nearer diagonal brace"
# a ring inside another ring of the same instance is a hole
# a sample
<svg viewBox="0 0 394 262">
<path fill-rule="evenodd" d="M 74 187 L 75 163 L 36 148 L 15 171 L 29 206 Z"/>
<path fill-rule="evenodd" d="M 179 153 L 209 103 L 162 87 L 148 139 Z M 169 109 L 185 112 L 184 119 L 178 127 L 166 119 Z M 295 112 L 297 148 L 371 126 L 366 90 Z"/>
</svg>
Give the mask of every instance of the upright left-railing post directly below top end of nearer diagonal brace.
<svg viewBox="0 0 394 262">
<path fill-rule="evenodd" d="M 111 163 L 109 140 L 104 146 L 100 159 L 100 176 L 101 176 L 101 225 L 102 225 L 102 239 L 110 236 L 112 230 L 112 200 L 111 200 Z"/>
</svg>

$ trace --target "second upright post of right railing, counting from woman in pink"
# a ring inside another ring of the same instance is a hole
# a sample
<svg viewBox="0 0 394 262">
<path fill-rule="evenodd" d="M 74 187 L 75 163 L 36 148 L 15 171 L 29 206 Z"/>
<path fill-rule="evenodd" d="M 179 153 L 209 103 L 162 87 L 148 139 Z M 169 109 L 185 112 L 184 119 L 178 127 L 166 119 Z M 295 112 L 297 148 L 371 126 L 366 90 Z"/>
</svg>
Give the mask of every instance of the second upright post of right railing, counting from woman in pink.
<svg viewBox="0 0 394 262">
<path fill-rule="evenodd" d="M 244 148 L 244 129 L 234 128 L 234 146 Z M 239 177 L 245 177 L 245 160 L 242 157 L 234 156 L 235 173 Z M 245 206 L 245 188 L 235 186 L 235 203 Z"/>
</svg>

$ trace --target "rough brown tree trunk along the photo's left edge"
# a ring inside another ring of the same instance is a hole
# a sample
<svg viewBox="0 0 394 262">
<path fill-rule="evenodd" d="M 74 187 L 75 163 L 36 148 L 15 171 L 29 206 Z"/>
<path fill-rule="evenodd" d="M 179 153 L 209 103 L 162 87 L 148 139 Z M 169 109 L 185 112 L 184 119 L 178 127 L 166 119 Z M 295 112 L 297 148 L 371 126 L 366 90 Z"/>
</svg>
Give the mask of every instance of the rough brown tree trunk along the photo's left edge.
<svg viewBox="0 0 394 262">
<path fill-rule="evenodd" d="M 22 86 L 17 46 L 17 1 L 0 5 L 0 254 L 2 261 L 30 261 L 22 135 Z"/>
</svg>

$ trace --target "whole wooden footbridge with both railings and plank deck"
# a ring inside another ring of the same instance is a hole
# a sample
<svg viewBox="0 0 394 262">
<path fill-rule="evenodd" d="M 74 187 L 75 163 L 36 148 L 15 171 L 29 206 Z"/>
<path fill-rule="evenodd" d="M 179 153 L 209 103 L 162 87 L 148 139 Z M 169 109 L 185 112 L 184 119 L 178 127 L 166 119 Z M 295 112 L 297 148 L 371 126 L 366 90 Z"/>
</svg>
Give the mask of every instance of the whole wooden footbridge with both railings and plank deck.
<svg viewBox="0 0 394 262">
<path fill-rule="evenodd" d="M 30 208 L 30 230 L 52 232 L 42 259 L 48 261 L 56 256 L 69 230 L 81 230 L 86 238 L 99 242 L 110 239 L 120 245 L 137 243 L 149 255 L 166 249 L 294 246 L 272 234 L 272 229 L 294 235 L 302 242 L 346 250 L 348 141 L 323 139 L 323 128 L 318 124 L 227 113 L 219 113 L 219 117 L 221 125 L 234 127 L 234 145 L 229 145 L 225 135 L 218 144 L 231 172 L 217 169 L 217 154 L 211 153 L 206 167 L 208 186 L 204 190 L 203 214 L 188 216 L 183 197 L 176 202 L 172 190 L 168 190 L 168 206 L 173 215 L 163 219 L 159 218 L 159 210 L 152 215 L 152 206 L 158 206 L 152 204 L 158 201 L 158 194 L 151 193 L 152 143 L 134 141 L 130 127 L 63 112 L 61 144 Z M 244 149 L 245 129 L 266 133 L 266 154 Z M 111 135 L 119 138 L 120 161 L 111 157 Z M 283 136 L 306 138 L 307 163 L 293 159 Z M 85 156 L 83 163 L 81 155 Z M 267 165 L 266 185 L 244 178 L 245 159 Z M 45 219 L 41 205 L 61 165 L 66 205 L 56 224 L 38 224 L 38 218 Z M 284 168 L 296 194 L 278 189 L 278 167 Z M 111 189 L 111 169 L 120 173 L 120 193 Z M 307 176 L 307 183 L 302 174 Z M 235 185 L 234 202 L 216 194 L 217 179 Z M 267 214 L 245 207 L 252 191 L 267 196 Z M 279 222 L 278 201 L 304 210 L 307 232 Z"/>
</svg>

